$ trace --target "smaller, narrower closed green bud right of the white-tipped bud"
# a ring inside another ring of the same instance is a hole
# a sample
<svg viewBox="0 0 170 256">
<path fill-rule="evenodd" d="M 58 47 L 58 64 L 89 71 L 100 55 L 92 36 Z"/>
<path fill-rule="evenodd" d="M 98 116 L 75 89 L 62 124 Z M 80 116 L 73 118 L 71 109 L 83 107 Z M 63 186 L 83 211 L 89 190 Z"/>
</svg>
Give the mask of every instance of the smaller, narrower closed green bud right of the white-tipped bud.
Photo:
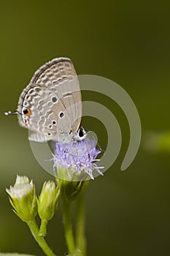
<svg viewBox="0 0 170 256">
<path fill-rule="evenodd" d="M 39 217 L 50 220 L 55 214 L 58 203 L 58 188 L 53 181 L 47 181 L 42 187 L 42 192 L 37 200 Z"/>
</svg>

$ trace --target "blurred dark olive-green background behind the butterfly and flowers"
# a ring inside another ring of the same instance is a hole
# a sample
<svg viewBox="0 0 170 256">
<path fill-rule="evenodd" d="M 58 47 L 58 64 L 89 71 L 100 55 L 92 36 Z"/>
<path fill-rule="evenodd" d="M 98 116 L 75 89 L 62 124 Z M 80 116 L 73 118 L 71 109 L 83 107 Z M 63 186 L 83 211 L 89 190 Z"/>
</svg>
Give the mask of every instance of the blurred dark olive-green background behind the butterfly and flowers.
<svg viewBox="0 0 170 256">
<path fill-rule="evenodd" d="M 86 195 L 86 233 L 91 255 L 170 255 L 169 151 L 147 151 L 147 132 L 169 130 L 169 1 L 1 1 L 1 178 L 0 251 L 43 255 L 28 227 L 11 211 L 5 187 L 16 174 L 34 180 L 37 192 L 53 179 L 39 166 L 19 127 L 18 97 L 34 71 L 57 56 L 72 59 L 78 74 L 100 75 L 120 84 L 134 100 L 142 121 L 142 144 L 134 162 L 120 171 L 129 141 L 123 111 L 107 97 L 83 93 L 117 117 L 123 146 L 115 164 L 90 183 Z M 101 147 L 104 126 L 92 118 Z M 114 147 L 114 145 L 113 145 Z M 50 222 L 47 241 L 63 255 L 61 208 Z"/>
</svg>

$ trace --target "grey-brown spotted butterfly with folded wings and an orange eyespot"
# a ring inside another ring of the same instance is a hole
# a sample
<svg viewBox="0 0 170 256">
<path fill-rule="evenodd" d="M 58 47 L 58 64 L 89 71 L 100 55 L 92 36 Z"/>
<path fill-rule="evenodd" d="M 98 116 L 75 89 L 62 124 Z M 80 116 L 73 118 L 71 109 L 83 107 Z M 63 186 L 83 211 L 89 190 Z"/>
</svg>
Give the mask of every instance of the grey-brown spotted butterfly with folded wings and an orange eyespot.
<svg viewBox="0 0 170 256">
<path fill-rule="evenodd" d="M 29 140 L 55 140 L 68 143 L 85 138 L 80 127 L 82 97 L 72 61 L 57 58 L 36 70 L 20 94 L 17 114 L 19 123 L 28 128 Z"/>
</svg>

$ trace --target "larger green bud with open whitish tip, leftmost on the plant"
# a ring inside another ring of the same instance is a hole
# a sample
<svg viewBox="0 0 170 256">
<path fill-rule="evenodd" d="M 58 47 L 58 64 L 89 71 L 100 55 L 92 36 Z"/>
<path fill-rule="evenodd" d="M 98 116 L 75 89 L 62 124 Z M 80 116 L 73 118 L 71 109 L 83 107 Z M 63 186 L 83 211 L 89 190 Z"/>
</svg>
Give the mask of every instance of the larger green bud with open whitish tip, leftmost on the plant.
<svg viewBox="0 0 170 256">
<path fill-rule="evenodd" d="M 36 192 L 33 181 L 29 181 L 26 176 L 17 176 L 14 187 L 10 186 L 6 191 L 15 214 L 23 222 L 32 221 L 37 214 Z"/>
</svg>

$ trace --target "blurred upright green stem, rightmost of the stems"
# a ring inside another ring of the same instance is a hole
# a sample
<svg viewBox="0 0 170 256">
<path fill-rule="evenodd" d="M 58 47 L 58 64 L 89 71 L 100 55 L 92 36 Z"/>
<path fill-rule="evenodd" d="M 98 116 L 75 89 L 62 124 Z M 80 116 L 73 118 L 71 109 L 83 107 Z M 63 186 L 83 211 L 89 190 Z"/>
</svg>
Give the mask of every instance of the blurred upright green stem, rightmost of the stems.
<svg viewBox="0 0 170 256">
<path fill-rule="evenodd" d="M 76 238 L 77 249 L 80 249 L 81 256 L 86 255 L 86 238 L 85 238 L 85 198 L 84 192 L 77 197 L 77 217 L 76 217 Z"/>
</svg>

